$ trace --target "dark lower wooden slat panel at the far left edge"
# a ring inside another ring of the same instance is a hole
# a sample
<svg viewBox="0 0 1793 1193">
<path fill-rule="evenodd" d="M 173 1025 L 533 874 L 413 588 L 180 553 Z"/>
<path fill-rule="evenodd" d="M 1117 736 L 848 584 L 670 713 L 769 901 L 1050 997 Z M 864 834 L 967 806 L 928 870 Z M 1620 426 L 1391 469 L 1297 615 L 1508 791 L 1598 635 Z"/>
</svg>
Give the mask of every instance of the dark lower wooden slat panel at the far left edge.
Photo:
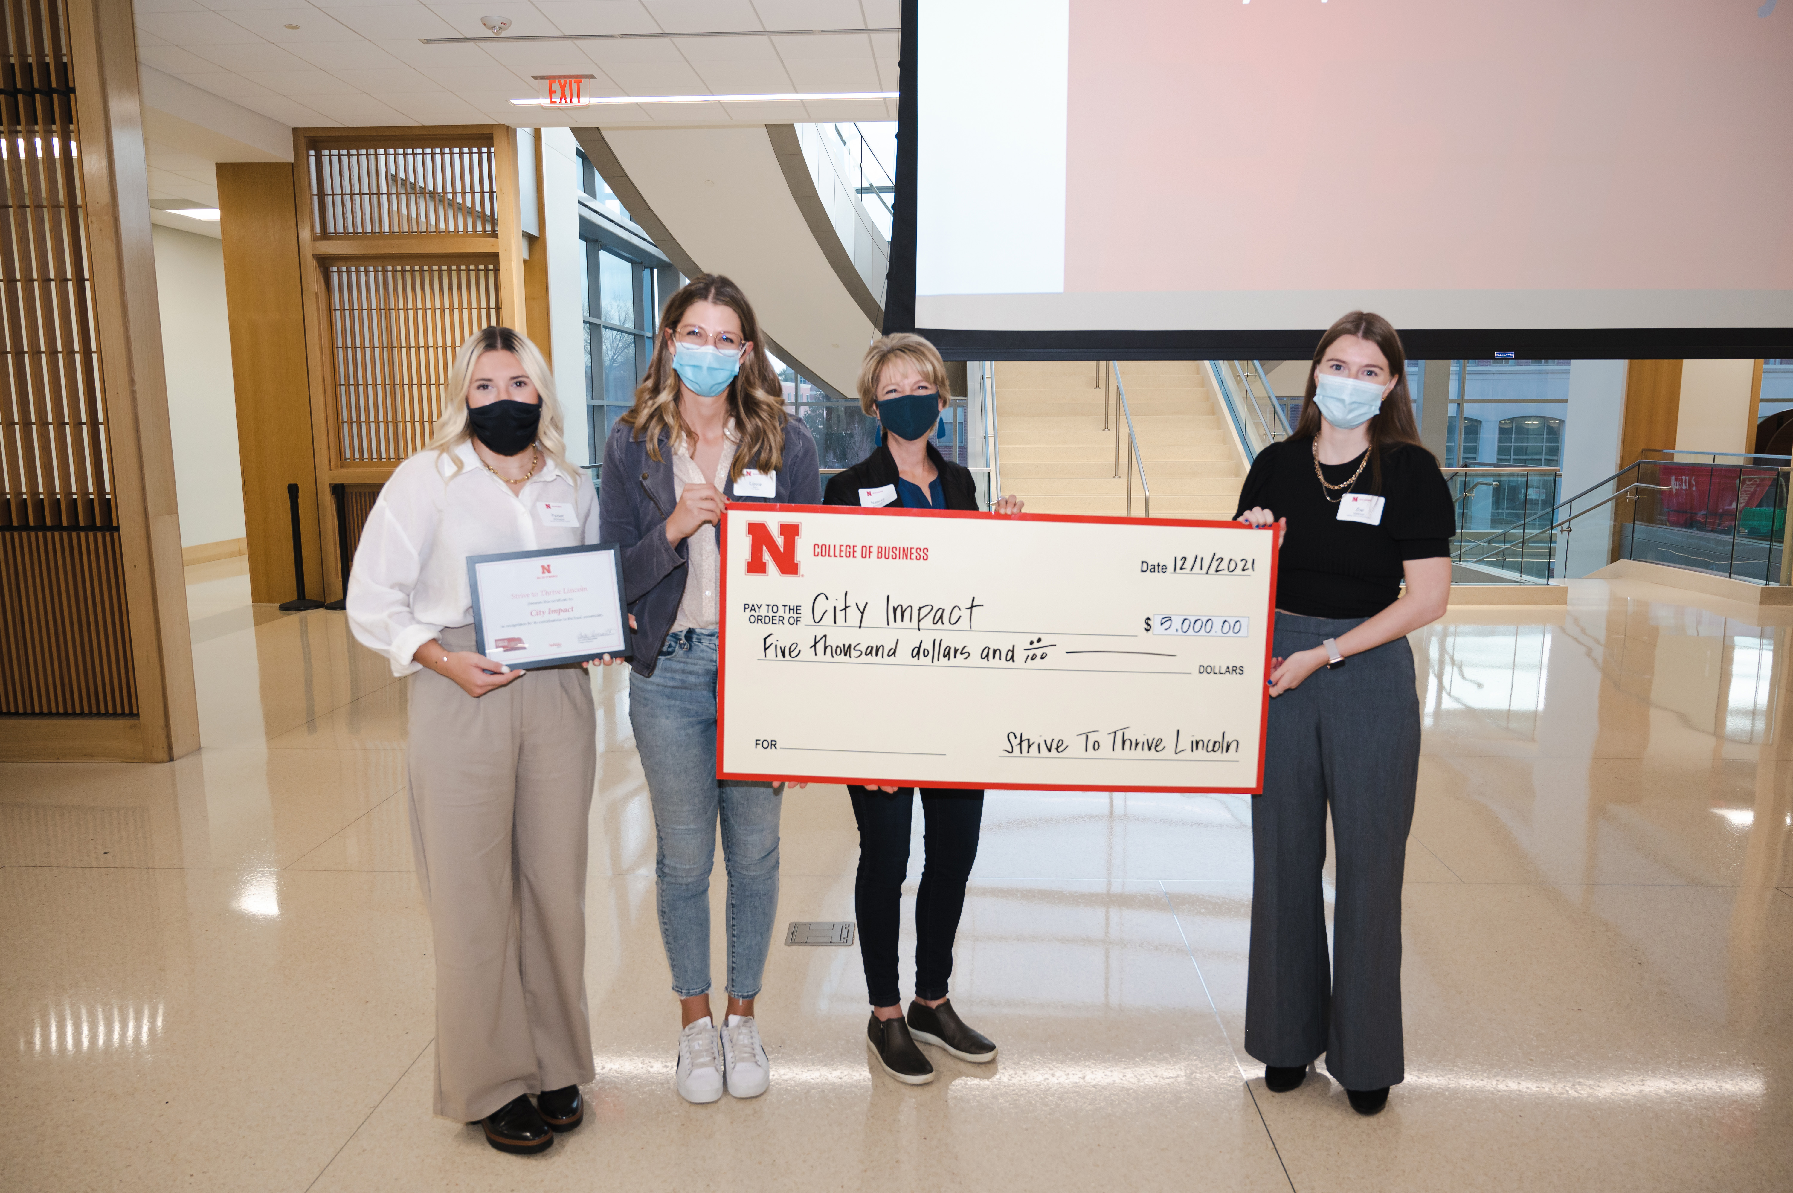
<svg viewBox="0 0 1793 1193">
<path fill-rule="evenodd" d="M 117 531 L 0 531 L 0 714 L 136 716 Z"/>
</svg>

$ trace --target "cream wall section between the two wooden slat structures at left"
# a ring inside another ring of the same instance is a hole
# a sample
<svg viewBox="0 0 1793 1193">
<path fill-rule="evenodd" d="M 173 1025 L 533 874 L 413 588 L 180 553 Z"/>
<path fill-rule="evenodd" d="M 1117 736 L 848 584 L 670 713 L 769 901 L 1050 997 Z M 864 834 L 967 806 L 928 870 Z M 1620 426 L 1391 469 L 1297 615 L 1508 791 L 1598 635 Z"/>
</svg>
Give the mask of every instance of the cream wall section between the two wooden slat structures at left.
<svg viewBox="0 0 1793 1193">
<path fill-rule="evenodd" d="M 237 395 L 224 303 L 224 244 L 174 228 L 151 228 L 161 357 L 169 373 L 174 488 L 181 545 L 242 538 L 242 468 Z"/>
</svg>

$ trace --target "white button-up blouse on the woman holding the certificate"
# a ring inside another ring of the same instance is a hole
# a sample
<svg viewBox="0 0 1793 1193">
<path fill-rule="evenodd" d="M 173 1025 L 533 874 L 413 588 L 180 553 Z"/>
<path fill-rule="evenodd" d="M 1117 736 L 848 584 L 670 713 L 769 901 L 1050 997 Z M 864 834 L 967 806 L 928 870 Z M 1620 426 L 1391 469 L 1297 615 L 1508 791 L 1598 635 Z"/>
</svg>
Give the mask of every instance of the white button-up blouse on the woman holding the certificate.
<svg viewBox="0 0 1793 1193">
<path fill-rule="evenodd" d="M 461 470 L 454 472 L 454 461 Z M 574 508 L 576 526 L 547 504 Z M 466 585 L 470 554 L 577 547 L 597 542 L 597 493 L 543 454 L 541 470 L 511 490 L 486 472 L 472 443 L 452 454 L 423 450 L 398 465 L 368 513 L 348 579 L 348 624 L 355 640 L 380 651 L 393 675 L 411 675 L 411 657 L 448 626 L 473 624 Z"/>
</svg>

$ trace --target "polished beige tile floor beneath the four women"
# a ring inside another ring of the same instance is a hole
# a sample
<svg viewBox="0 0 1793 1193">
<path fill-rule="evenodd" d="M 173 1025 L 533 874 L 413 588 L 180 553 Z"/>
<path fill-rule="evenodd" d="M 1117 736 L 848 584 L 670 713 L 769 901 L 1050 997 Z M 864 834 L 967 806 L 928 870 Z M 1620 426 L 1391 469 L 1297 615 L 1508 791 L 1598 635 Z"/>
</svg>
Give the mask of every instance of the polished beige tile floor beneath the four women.
<svg viewBox="0 0 1793 1193">
<path fill-rule="evenodd" d="M 1241 1048 L 1250 798 L 1101 791 L 988 800 L 954 1003 L 997 1064 L 888 1080 L 857 951 L 780 933 L 771 1093 L 685 1105 L 613 671 L 599 1076 L 516 1159 L 429 1112 L 403 684 L 240 562 L 188 581 L 199 753 L 0 766 L 7 1191 L 1793 1188 L 1793 612 L 1587 581 L 1415 637 L 1408 1082 L 1373 1119 Z M 791 793 L 780 924 L 850 919 L 853 863 L 845 793 Z"/>
</svg>

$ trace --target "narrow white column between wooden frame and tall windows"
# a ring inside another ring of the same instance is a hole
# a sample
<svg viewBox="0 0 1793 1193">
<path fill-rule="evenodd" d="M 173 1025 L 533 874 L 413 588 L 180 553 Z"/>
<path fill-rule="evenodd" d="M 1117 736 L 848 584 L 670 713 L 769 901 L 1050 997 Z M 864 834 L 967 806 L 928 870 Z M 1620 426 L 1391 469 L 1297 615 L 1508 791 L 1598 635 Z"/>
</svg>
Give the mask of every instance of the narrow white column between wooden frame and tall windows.
<svg viewBox="0 0 1793 1193">
<path fill-rule="evenodd" d="M 549 330 L 554 346 L 554 391 L 567 416 L 567 457 L 595 465 L 586 429 L 585 377 L 585 240 L 579 239 L 579 142 L 572 129 L 541 129 L 541 206 L 547 226 L 536 253 L 549 255 Z M 602 447 L 599 447 L 602 450 Z"/>
</svg>

